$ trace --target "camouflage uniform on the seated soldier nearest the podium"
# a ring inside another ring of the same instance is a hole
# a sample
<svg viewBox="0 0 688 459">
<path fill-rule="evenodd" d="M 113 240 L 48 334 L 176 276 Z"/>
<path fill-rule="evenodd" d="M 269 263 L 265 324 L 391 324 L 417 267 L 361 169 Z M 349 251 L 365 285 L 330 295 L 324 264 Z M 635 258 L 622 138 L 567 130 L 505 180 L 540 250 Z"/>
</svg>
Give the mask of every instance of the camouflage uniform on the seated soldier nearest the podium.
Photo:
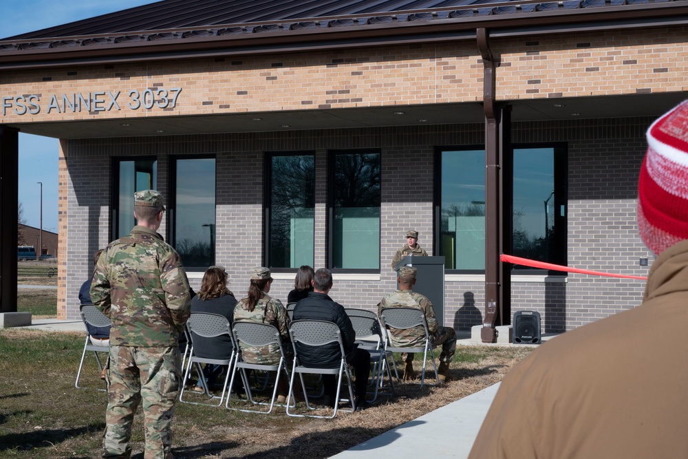
<svg viewBox="0 0 688 459">
<path fill-rule="evenodd" d="M 422 310 L 428 323 L 428 331 L 433 345 L 442 345 L 440 361 L 451 362 L 456 351 L 456 332 L 453 328 L 438 325 L 435 310 L 426 296 L 413 290 L 396 290 L 384 297 L 383 301 L 380 301 L 378 317 L 380 317 L 383 308 L 416 308 Z M 424 345 L 425 332 L 422 327 L 407 328 L 406 330 L 391 328 L 389 332 L 391 343 L 396 348 L 414 348 Z M 405 362 L 413 361 L 413 354 L 404 352 L 402 360 Z"/>
</svg>

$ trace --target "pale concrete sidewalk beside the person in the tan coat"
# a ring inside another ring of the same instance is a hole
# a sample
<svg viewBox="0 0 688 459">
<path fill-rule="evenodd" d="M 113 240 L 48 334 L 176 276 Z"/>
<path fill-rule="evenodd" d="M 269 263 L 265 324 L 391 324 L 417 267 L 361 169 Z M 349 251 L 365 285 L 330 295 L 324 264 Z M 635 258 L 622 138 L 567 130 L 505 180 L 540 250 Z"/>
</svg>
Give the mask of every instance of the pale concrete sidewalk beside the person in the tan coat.
<svg viewBox="0 0 688 459">
<path fill-rule="evenodd" d="M 498 387 L 482 389 L 332 458 L 467 458 Z"/>
</svg>

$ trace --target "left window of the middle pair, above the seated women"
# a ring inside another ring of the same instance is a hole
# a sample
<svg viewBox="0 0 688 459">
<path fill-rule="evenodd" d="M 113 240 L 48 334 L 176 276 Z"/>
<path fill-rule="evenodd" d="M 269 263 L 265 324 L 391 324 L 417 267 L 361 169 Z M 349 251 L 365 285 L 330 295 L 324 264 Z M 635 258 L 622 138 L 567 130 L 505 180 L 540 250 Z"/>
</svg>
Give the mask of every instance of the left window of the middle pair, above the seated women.
<svg viewBox="0 0 688 459">
<path fill-rule="evenodd" d="M 315 156 L 272 153 L 266 167 L 268 266 L 314 266 Z"/>
</svg>

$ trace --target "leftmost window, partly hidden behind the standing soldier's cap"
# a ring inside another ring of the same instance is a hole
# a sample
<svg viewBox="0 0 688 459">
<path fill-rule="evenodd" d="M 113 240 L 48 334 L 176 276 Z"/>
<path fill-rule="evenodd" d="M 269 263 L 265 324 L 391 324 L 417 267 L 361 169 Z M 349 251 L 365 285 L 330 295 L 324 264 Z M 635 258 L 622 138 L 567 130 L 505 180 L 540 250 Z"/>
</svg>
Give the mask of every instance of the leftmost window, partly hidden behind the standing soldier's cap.
<svg viewBox="0 0 688 459">
<path fill-rule="evenodd" d="M 158 161 L 155 158 L 115 159 L 113 169 L 112 240 L 129 234 L 136 224 L 133 193 L 158 187 Z"/>
</svg>

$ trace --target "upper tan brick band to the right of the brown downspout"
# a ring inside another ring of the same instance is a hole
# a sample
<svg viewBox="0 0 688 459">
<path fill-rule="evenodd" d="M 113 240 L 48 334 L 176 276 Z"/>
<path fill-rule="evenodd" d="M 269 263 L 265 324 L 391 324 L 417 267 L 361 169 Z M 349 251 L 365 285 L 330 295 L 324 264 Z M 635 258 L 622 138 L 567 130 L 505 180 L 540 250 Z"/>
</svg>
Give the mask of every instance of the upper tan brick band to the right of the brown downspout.
<svg viewBox="0 0 688 459">
<path fill-rule="evenodd" d="M 688 28 L 495 40 L 497 98 L 688 90 Z"/>
</svg>

